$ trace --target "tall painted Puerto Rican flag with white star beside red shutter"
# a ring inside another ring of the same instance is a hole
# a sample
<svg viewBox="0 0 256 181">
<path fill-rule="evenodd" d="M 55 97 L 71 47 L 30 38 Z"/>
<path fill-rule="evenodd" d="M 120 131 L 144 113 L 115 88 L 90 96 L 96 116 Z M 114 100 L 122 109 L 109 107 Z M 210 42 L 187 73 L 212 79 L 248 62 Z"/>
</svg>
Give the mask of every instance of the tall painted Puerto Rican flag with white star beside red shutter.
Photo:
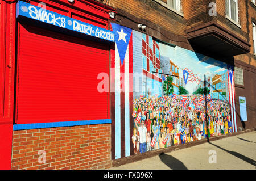
<svg viewBox="0 0 256 181">
<path fill-rule="evenodd" d="M 110 98 L 112 105 L 112 158 L 131 155 L 133 127 L 133 30 L 111 23 L 115 44 L 110 47 Z M 144 96 L 143 96 L 144 98 Z M 138 116 L 137 116 L 138 117 Z M 122 147 L 121 147 L 122 145 Z M 124 146 L 123 146 L 124 145 Z"/>
</svg>

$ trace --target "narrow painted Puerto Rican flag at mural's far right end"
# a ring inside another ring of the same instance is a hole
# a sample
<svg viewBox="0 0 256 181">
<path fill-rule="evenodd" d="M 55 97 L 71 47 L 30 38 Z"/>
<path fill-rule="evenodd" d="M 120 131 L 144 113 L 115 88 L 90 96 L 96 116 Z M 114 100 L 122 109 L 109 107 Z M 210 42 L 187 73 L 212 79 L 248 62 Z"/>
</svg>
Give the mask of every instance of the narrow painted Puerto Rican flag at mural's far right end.
<svg viewBox="0 0 256 181">
<path fill-rule="evenodd" d="M 228 84 L 229 84 L 229 104 L 230 115 L 232 117 L 232 132 L 237 132 L 236 107 L 235 107 L 235 91 L 234 91 L 234 67 L 228 65 Z"/>
</svg>

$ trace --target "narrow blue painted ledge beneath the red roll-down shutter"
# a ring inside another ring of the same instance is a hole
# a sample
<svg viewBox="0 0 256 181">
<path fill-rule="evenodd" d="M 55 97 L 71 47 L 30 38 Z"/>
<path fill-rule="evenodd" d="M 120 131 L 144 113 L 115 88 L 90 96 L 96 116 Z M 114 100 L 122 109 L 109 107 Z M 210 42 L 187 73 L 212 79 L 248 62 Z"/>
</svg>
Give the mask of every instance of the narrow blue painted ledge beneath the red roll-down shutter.
<svg viewBox="0 0 256 181">
<path fill-rule="evenodd" d="M 92 125 L 92 124 L 107 124 L 111 123 L 111 119 L 87 120 L 87 121 L 64 121 L 53 123 L 32 123 L 32 124 L 14 124 L 13 130 L 22 129 L 39 129 L 39 128 L 54 128 L 54 127 L 73 127 L 77 125 Z"/>
</svg>

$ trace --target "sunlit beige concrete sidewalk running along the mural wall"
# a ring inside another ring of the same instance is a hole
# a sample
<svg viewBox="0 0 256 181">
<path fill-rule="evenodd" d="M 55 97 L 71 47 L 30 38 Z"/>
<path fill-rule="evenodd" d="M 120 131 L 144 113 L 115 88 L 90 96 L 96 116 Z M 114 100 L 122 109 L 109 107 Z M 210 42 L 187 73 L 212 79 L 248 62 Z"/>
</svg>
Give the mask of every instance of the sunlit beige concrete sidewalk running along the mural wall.
<svg viewBox="0 0 256 181">
<path fill-rule="evenodd" d="M 212 153 L 209 151 L 212 150 Z M 216 155 L 214 155 L 216 153 Z M 210 160 L 210 161 L 209 161 Z M 216 163 L 214 163 L 216 161 Z M 213 162 L 213 163 L 209 163 Z M 256 132 L 192 146 L 110 169 L 253 169 L 256 170 Z"/>
</svg>

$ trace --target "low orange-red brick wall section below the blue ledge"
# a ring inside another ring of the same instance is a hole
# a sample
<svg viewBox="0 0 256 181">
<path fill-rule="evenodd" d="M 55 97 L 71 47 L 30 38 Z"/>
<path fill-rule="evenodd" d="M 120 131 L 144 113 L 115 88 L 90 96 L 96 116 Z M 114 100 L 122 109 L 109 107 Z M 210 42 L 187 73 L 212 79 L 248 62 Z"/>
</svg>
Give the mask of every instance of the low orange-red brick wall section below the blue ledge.
<svg viewBox="0 0 256 181">
<path fill-rule="evenodd" d="M 39 150 L 46 163 L 39 163 Z M 106 169 L 110 124 L 13 131 L 11 169 Z"/>
</svg>

